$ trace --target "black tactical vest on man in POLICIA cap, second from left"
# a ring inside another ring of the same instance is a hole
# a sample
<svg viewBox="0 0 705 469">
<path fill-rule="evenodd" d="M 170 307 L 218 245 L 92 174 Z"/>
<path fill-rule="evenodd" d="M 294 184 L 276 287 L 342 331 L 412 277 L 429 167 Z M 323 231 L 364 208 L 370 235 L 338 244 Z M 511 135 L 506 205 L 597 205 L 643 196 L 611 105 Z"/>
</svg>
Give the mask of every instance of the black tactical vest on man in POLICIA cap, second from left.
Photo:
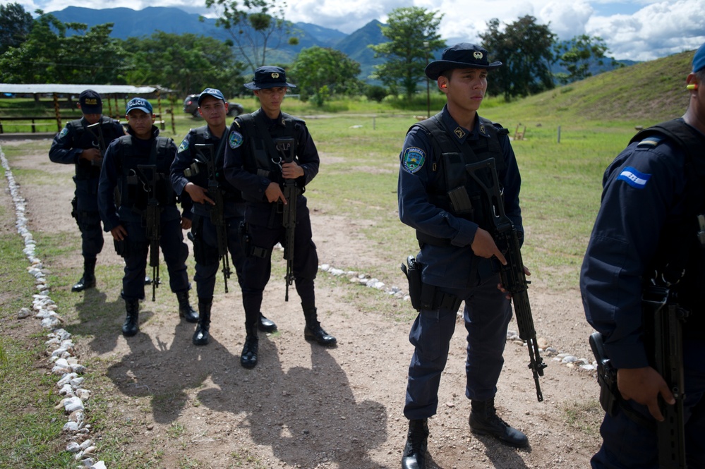
<svg viewBox="0 0 705 469">
<path fill-rule="evenodd" d="M 156 166 L 156 196 L 160 207 L 175 206 L 176 194 L 169 181 L 169 166 L 174 155 L 169 154 L 171 139 L 155 137 L 152 139 L 150 157 L 145 158 L 135 148 L 132 135 L 124 135 L 117 141 L 116 159 L 121 173 L 121 205 L 142 212 L 147 208 L 150 198 L 149 181 L 152 171 L 140 171 L 138 166 Z"/>
</svg>

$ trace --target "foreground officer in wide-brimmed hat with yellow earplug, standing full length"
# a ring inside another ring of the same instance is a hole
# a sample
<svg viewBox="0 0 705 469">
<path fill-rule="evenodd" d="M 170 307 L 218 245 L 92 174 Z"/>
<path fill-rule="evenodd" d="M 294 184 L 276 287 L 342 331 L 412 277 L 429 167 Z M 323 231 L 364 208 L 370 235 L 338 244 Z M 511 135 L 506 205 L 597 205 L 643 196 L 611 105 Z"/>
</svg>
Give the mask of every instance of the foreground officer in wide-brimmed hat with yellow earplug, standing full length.
<svg viewBox="0 0 705 469">
<path fill-rule="evenodd" d="M 507 130 L 477 114 L 488 71 L 501 65 L 490 63 L 485 49 L 468 43 L 445 49 L 441 60 L 429 63 L 426 76 L 438 82 L 447 105 L 411 127 L 400 154 L 399 219 L 416 230 L 421 248 L 416 262 L 427 298 L 409 334 L 414 355 L 404 405 L 409 419 L 404 469 L 426 467 L 427 419 L 438 410 L 438 386 L 462 302 L 471 431 L 511 446 L 528 444 L 522 432 L 495 412 L 512 307 L 498 288 L 498 262 L 506 261 L 489 233 L 493 224 L 488 207 L 483 207 L 481 190 L 465 170 L 466 164 L 495 160 L 505 211 L 523 232 L 521 178 Z"/>
</svg>

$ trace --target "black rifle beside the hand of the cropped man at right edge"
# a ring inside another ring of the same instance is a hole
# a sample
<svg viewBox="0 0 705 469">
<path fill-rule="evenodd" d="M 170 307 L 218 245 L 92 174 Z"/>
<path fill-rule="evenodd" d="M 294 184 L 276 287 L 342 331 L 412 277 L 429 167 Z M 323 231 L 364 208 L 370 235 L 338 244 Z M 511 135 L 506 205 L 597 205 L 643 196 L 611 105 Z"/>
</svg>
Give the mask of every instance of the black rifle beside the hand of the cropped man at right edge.
<svg viewBox="0 0 705 469">
<path fill-rule="evenodd" d="M 683 322 L 687 310 L 669 304 L 670 290 L 651 285 L 644 289 L 641 304 L 644 309 L 644 327 L 653 331 L 653 368 L 661 374 L 675 397 L 669 406 L 658 398 L 663 422 L 656 422 L 658 435 L 658 467 L 685 469 L 685 375 L 683 373 Z"/>
</svg>

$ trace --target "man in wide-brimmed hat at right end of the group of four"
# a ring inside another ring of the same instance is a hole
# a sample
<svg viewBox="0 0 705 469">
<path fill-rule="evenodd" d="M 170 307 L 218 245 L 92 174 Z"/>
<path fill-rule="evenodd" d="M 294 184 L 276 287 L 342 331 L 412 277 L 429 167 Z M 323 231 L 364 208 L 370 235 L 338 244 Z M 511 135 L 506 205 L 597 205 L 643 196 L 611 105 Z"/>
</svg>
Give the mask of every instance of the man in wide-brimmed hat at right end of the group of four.
<svg viewBox="0 0 705 469">
<path fill-rule="evenodd" d="M 318 272 L 318 255 L 311 239 L 311 219 L 303 190 L 318 174 L 316 150 L 306 123 L 284 114 L 282 100 L 288 87 L 283 68 L 263 66 L 255 70 L 252 83 L 245 85 L 260 99 L 260 109 L 235 118 L 228 132 L 224 172 L 229 183 L 242 191 L 246 201 L 246 237 L 250 247 L 243 265 L 242 301 L 245 308 L 246 338 L 240 363 L 257 365 L 257 324 L 262 292 L 270 279 L 272 248 L 284 245 L 282 207 L 288 201 L 282 187 L 284 180 L 295 180 L 301 189 L 296 200 L 296 233 L 294 236 L 294 284 L 301 298 L 307 341 L 322 346 L 335 346 L 334 336 L 327 334 L 318 322 L 313 281 Z M 275 139 L 294 138 L 294 161 L 283 162 Z"/>
</svg>

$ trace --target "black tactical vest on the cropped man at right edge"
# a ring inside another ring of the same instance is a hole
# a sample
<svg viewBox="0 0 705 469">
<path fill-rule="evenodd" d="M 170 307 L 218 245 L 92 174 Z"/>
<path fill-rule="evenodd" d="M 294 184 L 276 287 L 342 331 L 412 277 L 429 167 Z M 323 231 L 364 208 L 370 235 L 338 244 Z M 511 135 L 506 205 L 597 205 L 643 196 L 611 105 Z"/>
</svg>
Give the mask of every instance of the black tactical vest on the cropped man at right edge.
<svg viewBox="0 0 705 469">
<path fill-rule="evenodd" d="M 677 303 L 694 313 L 688 318 L 685 334 L 701 334 L 705 331 L 705 314 L 702 314 L 705 311 L 705 226 L 701 226 L 698 216 L 705 215 L 705 138 L 684 122 L 674 119 L 641 130 L 629 143 L 649 145 L 650 135 L 668 138 L 686 155 L 685 212 L 666 220 L 650 270 L 665 274 L 669 280 L 677 279 L 683 273 L 671 290 L 675 291 Z"/>
</svg>

